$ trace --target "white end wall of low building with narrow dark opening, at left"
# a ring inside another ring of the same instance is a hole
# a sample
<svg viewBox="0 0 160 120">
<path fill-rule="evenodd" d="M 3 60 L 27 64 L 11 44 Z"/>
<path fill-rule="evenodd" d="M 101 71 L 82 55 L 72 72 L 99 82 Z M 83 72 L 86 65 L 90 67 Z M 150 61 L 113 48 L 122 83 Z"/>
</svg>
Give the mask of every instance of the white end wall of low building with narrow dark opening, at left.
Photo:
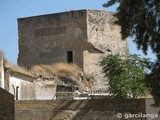
<svg viewBox="0 0 160 120">
<path fill-rule="evenodd" d="M 22 74 L 10 73 L 9 92 L 16 100 L 35 100 L 34 79 Z"/>
</svg>

